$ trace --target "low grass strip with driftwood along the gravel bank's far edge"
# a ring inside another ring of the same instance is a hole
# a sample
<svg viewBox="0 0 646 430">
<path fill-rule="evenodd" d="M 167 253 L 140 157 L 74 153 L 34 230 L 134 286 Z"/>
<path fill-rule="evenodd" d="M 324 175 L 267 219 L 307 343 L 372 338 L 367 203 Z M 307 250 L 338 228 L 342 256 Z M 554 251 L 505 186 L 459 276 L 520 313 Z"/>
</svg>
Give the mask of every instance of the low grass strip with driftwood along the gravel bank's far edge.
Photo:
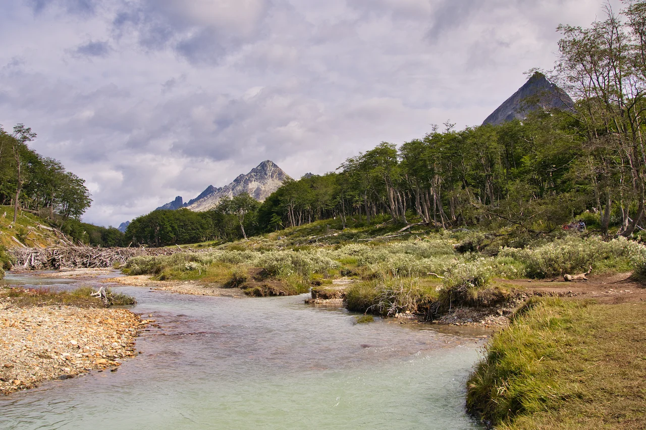
<svg viewBox="0 0 646 430">
<path fill-rule="evenodd" d="M 0 290 L 0 297 L 5 297 L 16 307 L 65 305 L 76 307 L 106 307 L 98 297 L 92 297 L 91 287 L 79 287 L 73 291 L 55 291 L 48 287 L 37 289 L 8 288 Z M 105 290 L 108 306 L 134 305 L 136 300 L 127 294 Z"/>
</svg>

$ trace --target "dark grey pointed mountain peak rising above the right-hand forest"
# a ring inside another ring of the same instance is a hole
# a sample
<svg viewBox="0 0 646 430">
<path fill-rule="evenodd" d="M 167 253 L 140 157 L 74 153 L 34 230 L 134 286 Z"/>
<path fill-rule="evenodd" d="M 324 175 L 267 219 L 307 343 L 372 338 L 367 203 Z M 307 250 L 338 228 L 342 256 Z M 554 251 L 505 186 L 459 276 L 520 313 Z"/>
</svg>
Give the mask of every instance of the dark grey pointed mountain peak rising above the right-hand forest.
<svg viewBox="0 0 646 430">
<path fill-rule="evenodd" d="M 527 114 L 539 108 L 556 108 L 559 110 L 572 110 L 574 102 L 567 92 L 561 90 L 550 82 L 541 72 L 536 72 L 528 81 L 517 90 L 513 96 L 506 99 L 490 116 L 485 119 L 485 124 L 499 125 L 513 119 L 521 121 Z"/>
</svg>

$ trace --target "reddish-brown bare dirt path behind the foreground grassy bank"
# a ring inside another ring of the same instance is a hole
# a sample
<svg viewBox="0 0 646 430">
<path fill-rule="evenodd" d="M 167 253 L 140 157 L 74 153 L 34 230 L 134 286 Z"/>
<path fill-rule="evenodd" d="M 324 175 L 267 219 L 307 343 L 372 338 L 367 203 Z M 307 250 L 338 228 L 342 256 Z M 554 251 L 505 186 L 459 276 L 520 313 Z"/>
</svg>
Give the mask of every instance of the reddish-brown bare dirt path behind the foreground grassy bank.
<svg viewBox="0 0 646 430">
<path fill-rule="evenodd" d="M 495 282 L 522 287 L 537 296 L 560 296 L 563 298 L 591 298 L 599 303 L 618 304 L 646 302 L 646 284 L 630 279 L 630 272 L 589 276 L 587 281 L 565 282 L 563 278 L 550 280 L 503 280 Z"/>
</svg>

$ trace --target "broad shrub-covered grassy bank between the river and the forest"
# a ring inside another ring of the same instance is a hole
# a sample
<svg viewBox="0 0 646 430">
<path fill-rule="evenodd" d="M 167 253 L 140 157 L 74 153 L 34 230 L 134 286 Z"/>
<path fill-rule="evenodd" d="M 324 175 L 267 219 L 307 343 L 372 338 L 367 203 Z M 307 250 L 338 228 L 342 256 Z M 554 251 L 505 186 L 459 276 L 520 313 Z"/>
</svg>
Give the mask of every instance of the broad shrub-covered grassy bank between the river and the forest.
<svg viewBox="0 0 646 430">
<path fill-rule="evenodd" d="M 391 237 L 394 229 L 337 231 L 319 221 L 208 251 L 133 258 L 125 272 L 240 287 L 254 296 L 299 294 L 345 277 L 351 280 L 345 298 L 353 311 L 410 311 L 431 318 L 460 305 L 497 305 L 516 294 L 495 278 L 543 279 L 590 267 L 595 274 L 629 271 L 646 261 L 646 248 L 625 238 L 559 232 L 519 241 L 511 235 L 503 240 L 481 232 L 417 230 Z"/>
</svg>

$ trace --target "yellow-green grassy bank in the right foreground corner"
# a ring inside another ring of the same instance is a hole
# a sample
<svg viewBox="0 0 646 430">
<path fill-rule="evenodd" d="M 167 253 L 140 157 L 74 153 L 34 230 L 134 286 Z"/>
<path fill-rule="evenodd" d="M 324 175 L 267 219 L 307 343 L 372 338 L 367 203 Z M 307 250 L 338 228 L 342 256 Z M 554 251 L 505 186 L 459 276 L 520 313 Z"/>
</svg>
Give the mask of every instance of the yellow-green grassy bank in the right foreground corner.
<svg viewBox="0 0 646 430">
<path fill-rule="evenodd" d="M 495 334 L 467 407 L 497 429 L 646 427 L 646 303 L 530 300 Z"/>
</svg>

